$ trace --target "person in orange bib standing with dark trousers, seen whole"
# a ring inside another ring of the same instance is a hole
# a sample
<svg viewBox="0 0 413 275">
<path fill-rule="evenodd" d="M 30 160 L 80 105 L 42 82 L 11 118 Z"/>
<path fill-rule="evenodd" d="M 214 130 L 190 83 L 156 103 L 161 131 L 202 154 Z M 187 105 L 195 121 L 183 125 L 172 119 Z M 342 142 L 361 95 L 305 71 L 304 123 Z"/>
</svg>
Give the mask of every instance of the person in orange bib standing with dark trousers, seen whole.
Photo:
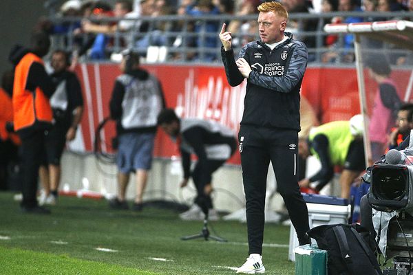
<svg viewBox="0 0 413 275">
<path fill-rule="evenodd" d="M 56 87 L 47 75 L 42 57 L 50 47 L 45 33 L 32 34 L 30 49 L 13 47 L 9 59 L 14 64 L 13 122 L 21 138 L 23 170 L 23 200 L 21 210 L 28 213 L 49 214 L 37 203 L 37 180 L 44 153 L 45 130 L 52 127 L 53 112 L 49 98 Z"/>
</svg>

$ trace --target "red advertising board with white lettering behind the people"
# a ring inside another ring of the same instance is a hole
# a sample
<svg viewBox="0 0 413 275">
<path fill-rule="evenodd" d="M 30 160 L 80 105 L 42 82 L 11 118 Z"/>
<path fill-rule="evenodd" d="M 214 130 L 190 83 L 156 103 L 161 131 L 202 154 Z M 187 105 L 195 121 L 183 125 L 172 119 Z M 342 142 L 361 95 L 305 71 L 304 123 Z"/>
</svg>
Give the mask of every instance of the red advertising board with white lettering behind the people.
<svg viewBox="0 0 413 275">
<path fill-rule="evenodd" d="M 216 120 L 237 132 L 244 108 L 245 81 L 238 87 L 229 86 L 223 67 L 145 65 L 145 69 L 158 76 L 167 106 L 176 109 L 182 118 Z M 76 68 L 76 74 L 82 83 L 85 113 L 82 135 L 75 147 L 80 151 L 92 151 L 96 127 L 109 115 L 109 100 L 120 70 L 112 64 L 82 64 Z M 392 73 L 401 98 L 409 76 L 407 71 Z M 368 102 L 372 102 L 377 84 L 367 73 L 365 78 Z M 355 68 L 309 67 L 301 96 L 306 96 L 313 105 L 321 123 L 348 120 L 360 112 Z M 100 137 L 111 140 L 114 135 L 114 127 L 105 127 Z M 177 153 L 175 145 L 162 131 L 158 131 L 154 153 L 156 157 L 171 157 Z M 240 163 L 239 153 L 233 156 L 231 163 Z"/>
</svg>

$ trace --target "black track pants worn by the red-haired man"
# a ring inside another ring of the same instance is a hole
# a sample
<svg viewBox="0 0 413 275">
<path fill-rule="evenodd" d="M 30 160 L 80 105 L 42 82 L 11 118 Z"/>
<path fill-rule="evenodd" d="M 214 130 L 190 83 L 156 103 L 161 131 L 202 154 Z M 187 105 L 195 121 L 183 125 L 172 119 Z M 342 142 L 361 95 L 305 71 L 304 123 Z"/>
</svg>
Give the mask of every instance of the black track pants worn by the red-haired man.
<svg viewBox="0 0 413 275">
<path fill-rule="evenodd" d="M 297 131 L 241 126 L 242 177 L 246 197 L 249 254 L 262 254 L 266 179 L 273 164 L 277 190 L 282 195 L 299 240 L 309 230 L 308 210 L 299 192 Z"/>
</svg>

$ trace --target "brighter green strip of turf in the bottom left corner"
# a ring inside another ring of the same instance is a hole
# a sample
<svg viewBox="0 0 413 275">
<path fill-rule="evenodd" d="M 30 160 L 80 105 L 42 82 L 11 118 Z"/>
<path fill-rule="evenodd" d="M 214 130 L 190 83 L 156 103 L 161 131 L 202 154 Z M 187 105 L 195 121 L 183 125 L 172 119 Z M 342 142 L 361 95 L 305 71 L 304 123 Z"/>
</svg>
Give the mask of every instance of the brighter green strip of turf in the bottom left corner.
<svg viewBox="0 0 413 275">
<path fill-rule="evenodd" d="M 130 267 L 0 246 L 0 274 L 134 274 L 156 275 Z"/>
</svg>

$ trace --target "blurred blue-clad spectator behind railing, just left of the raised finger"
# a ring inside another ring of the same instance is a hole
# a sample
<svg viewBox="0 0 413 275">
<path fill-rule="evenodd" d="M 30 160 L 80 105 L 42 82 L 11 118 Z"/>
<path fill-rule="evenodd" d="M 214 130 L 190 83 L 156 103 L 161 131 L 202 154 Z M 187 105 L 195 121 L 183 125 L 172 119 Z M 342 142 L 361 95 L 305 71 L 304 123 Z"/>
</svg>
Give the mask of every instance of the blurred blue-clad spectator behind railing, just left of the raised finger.
<svg viewBox="0 0 413 275">
<path fill-rule="evenodd" d="M 202 15 L 216 15 L 220 14 L 218 7 L 213 5 L 211 0 L 199 0 L 193 5 L 189 5 L 186 10 L 188 15 L 193 17 L 200 17 Z M 198 59 L 203 61 L 214 61 L 217 56 L 215 53 L 208 52 L 209 49 L 215 49 L 218 45 L 218 39 L 215 35 L 211 35 L 218 32 L 218 23 L 216 21 L 196 21 L 194 32 L 198 33 L 198 39 L 196 41 L 196 47 L 204 48 L 204 52 L 201 56 L 197 56 Z M 213 50 L 215 52 L 215 50 Z"/>
</svg>

